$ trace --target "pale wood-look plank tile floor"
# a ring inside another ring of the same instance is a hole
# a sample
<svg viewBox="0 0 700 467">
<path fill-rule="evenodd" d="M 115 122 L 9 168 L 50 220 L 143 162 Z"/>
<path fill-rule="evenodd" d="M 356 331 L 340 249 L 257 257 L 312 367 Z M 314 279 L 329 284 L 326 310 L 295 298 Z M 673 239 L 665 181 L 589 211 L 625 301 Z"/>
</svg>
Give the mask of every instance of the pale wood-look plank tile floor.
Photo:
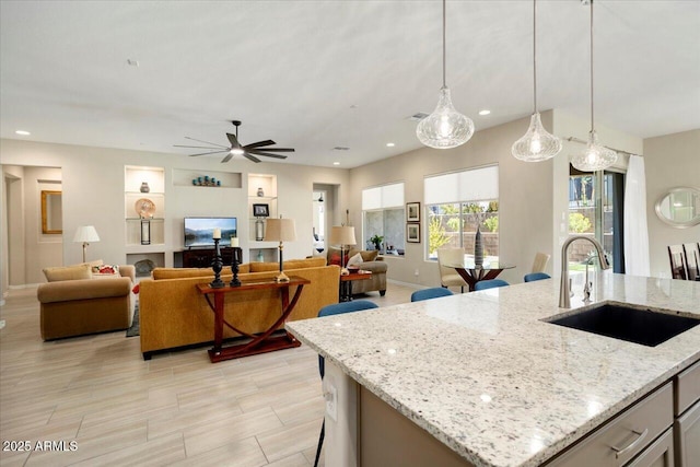
<svg viewBox="0 0 700 467">
<path fill-rule="evenodd" d="M 44 342 L 35 289 L 10 291 L 0 319 L 0 466 L 313 465 L 324 401 L 306 346 L 212 364 L 206 347 L 143 361 L 125 331 Z"/>
</svg>

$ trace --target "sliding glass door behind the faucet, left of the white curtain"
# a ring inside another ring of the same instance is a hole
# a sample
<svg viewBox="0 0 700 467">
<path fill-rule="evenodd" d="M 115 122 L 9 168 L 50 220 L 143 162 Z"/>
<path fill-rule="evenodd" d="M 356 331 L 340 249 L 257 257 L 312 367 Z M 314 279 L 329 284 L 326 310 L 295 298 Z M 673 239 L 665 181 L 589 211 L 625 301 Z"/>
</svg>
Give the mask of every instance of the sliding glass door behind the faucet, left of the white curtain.
<svg viewBox="0 0 700 467">
<path fill-rule="evenodd" d="M 615 272 L 625 272 L 622 247 L 622 202 L 625 174 L 617 172 L 582 173 L 570 168 L 569 233 L 597 240 Z M 602 187 L 600 189 L 598 187 Z M 569 254 L 572 270 L 585 264 L 598 264 L 590 243 L 578 242 Z"/>
</svg>

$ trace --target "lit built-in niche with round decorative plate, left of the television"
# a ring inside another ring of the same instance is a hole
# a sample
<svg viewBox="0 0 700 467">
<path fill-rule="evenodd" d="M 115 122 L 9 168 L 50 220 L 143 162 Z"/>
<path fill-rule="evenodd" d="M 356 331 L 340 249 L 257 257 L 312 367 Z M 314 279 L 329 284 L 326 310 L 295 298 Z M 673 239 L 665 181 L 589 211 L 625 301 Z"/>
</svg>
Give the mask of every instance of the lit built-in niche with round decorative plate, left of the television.
<svg viewBox="0 0 700 467">
<path fill-rule="evenodd" d="M 127 262 L 150 259 L 155 266 L 165 260 L 165 170 L 163 167 L 125 166 L 124 218 L 126 227 Z M 148 191 L 141 191 L 148 185 Z M 139 200 L 149 200 L 155 209 L 153 215 L 142 219 L 137 212 Z M 144 224 L 148 222 L 148 225 Z M 144 230 L 149 243 L 144 244 Z"/>
</svg>

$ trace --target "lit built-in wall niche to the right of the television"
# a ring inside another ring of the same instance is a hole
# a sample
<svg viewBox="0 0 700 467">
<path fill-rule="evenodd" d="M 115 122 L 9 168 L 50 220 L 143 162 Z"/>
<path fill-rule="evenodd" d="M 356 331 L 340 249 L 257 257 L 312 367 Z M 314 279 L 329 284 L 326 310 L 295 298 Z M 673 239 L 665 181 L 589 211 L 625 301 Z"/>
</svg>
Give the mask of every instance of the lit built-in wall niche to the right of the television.
<svg viewBox="0 0 700 467">
<path fill-rule="evenodd" d="M 277 217 L 277 175 L 248 174 L 248 255 L 250 261 L 277 261 L 278 244 L 256 240 L 254 205 L 267 205 L 269 217 Z"/>
</svg>

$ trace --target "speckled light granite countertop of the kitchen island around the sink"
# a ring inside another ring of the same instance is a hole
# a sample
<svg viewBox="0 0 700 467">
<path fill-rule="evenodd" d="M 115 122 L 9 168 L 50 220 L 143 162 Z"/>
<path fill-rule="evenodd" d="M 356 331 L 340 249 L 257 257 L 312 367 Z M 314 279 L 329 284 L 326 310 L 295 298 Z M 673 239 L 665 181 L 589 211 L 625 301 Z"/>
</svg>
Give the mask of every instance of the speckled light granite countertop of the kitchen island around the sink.
<svg viewBox="0 0 700 467">
<path fill-rule="evenodd" d="M 593 281 L 593 302 L 700 316 L 700 282 Z M 542 322 L 558 300 L 550 279 L 287 327 L 465 459 L 530 467 L 700 359 L 700 326 L 644 347 Z"/>
</svg>

